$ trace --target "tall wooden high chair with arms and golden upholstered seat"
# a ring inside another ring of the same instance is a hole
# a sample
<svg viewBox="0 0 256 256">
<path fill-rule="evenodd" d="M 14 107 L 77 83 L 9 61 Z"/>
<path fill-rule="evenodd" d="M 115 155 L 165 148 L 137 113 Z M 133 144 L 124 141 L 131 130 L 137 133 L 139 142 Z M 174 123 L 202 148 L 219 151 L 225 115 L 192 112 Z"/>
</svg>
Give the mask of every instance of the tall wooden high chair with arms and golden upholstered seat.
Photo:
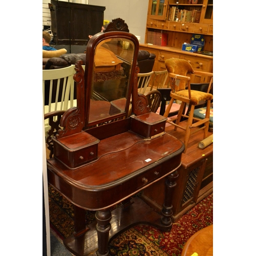
<svg viewBox="0 0 256 256">
<path fill-rule="evenodd" d="M 164 117 L 168 117 L 170 109 L 172 108 L 172 105 L 175 100 L 181 101 L 180 109 L 177 117 L 170 118 L 166 122 L 175 125 L 175 130 L 177 130 L 177 127 L 179 127 L 180 129 L 185 131 L 185 137 L 184 137 L 184 145 L 185 145 L 184 153 L 185 153 L 190 134 L 196 133 L 203 129 L 204 139 L 208 135 L 210 101 L 213 98 L 212 94 L 210 94 L 209 91 L 213 81 L 213 74 L 208 72 L 203 72 L 203 71 L 194 71 L 190 63 L 184 59 L 176 59 L 176 58 L 167 59 L 165 61 L 165 66 L 168 71 L 168 76 L 169 76 L 169 81 L 171 86 L 171 92 L 170 92 L 171 99 L 165 110 Z M 189 74 L 196 74 L 196 75 L 211 77 L 206 93 L 191 90 Z M 201 101 L 207 102 L 206 114 L 204 119 L 199 119 L 194 117 L 195 105 L 199 104 L 199 102 Z M 186 107 L 187 104 L 190 104 L 190 111 L 188 115 L 183 114 L 184 108 Z M 179 125 L 182 117 L 187 119 L 187 125 L 185 128 Z M 191 129 L 193 129 L 193 132 L 191 132 Z"/>
</svg>

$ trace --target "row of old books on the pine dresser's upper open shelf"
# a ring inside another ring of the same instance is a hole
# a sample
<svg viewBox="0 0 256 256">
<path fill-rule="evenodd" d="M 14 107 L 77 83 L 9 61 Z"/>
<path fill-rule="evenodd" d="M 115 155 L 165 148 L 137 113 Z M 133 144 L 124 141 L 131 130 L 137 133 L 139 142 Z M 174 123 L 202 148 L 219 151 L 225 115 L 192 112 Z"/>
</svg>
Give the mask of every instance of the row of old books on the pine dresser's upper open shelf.
<svg viewBox="0 0 256 256">
<path fill-rule="evenodd" d="M 171 22 L 199 23 L 201 11 L 196 8 L 193 10 L 180 10 L 178 6 L 169 9 L 168 20 Z"/>
</svg>

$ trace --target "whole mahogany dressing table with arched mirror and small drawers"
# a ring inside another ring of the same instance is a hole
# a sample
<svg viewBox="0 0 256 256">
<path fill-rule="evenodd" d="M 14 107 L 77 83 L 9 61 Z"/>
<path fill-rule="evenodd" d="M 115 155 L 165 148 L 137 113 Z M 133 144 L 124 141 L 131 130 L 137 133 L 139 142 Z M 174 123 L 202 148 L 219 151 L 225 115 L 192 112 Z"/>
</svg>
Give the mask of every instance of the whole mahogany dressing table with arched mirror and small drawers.
<svg viewBox="0 0 256 256">
<path fill-rule="evenodd" d="M 120 60 L 118 68 L 108 61 L 96 67 L 104 48 Z M 120 18 L 93 36 L 85 71 L 76 63 L 77 106 L 62 115 L 62 129 L 52 138 L 48 182 L 74 204 L 75 231 L 63 243 L 75 255 L 108 255 L 109 239 L 136 223 L 172 228 L 172 189 L 184 145 L 165 133 L 166 118 L 150 112 L 146 97 L 137 92 L 138 50 L 138 39 Z M 113 88 L 120 92 L 108 101 Z M 166 180 L 161 215 L 140 198 L 130 199 L 160 179 Z M 89 226 L 87 209 L 96 210 Z"/>
</svg>

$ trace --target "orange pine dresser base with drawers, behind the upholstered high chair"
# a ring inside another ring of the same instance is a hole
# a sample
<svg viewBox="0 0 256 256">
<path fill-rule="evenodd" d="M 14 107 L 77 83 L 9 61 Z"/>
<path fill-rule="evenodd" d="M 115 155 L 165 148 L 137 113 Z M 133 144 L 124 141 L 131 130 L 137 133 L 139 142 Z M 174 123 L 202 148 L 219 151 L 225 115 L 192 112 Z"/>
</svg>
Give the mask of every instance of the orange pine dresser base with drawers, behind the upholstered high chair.
<svg viewBox="0 0 256 256">
<path fill-rule="evenodd" d="M 164 61 L 169 58 L 178 58 L 187 60 L 194 70 L 200 70 L 204 72 L 213 72 L 214 57 L 209 55 L 203 55 L 201 53 L 185 52 L 174 47 L 162 47 L 148 44 L 140 44 L 140 50 L 146 50 L 150 53 L 156 54 L 155 64 L 153 71 L 165 70 Z M 208 77 L 201 77 L 191 75 L 192 83 L 208 82 Z"/>
</svg>

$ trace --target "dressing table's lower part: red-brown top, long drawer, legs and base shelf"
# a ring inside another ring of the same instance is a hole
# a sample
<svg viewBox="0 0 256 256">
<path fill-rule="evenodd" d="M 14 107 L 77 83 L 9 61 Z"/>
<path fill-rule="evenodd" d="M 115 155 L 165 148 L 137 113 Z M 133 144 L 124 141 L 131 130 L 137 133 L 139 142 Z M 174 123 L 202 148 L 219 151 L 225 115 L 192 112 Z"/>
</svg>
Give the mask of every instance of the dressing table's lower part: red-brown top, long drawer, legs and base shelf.
<svg viewBox="0 0 256 256">
<path fill-rule="evenodd" d="M 69 169 L 57 159 L 49 159 L 49 183 L 75 205 L 75 232 L 63 241 L 65 246 L 75 255 L 108 255 L 109 238 L 135 223 L 170 230 L 170 194 L 183 150 L 183 143 L 169 134 L 145 139 L 126 131 L 102 139 L 98 159 L 79 168 Z M 166 196 L 161 215 L 140 198 L 130 200 L 164 177 Z M 111 211 L 119 203 L 121 208 Z M 97 210 L 97 223 L 88 227 L 84 224 L 86 209 Z"/>
</svg>

